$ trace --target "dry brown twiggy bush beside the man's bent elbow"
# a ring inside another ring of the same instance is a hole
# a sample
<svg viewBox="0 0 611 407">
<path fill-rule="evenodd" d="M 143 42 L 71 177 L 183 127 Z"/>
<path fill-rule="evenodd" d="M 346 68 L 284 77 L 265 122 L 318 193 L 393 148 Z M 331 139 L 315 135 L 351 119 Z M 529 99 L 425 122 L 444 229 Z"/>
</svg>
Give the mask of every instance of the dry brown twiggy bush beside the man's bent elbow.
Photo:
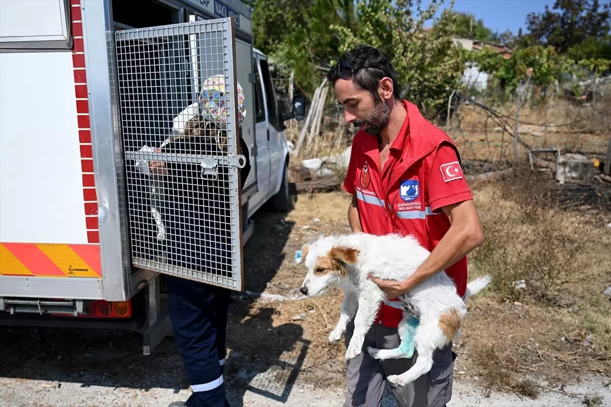
<svg viewBox="0 0 611 407">
<path fill-rule="evenodd" d="M 549 178 L 517 167 L 499 187 L 480 193 L 486 241 L 472 259 L 478 270 L 494 275 L 493 287 L 504 297 L 517 300 L 527 292 L 553 303 L 600 250 L 591 239 L 601 225 L 558 210 Z M 529 282 L 525 290 L 513 285 L 522 279 Z"/>
</svg>

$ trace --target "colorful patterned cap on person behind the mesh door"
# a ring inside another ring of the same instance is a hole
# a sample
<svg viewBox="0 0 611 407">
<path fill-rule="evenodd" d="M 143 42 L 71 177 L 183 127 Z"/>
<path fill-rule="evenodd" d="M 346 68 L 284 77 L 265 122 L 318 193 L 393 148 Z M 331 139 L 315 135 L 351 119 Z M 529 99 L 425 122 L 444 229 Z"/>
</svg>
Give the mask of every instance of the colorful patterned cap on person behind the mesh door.
<svg viewBox="0 0 611 407">
<path fill-rule="evenodd" d="M 225 77 L 214 75 L 203 81 L 202 92 L 197 98 L 202 116 L 220 128 L 225 128 L 227 123 L 227 99 L 225 96 Z M 238 125 L 246 117 L 246 104 L 244 103 L 244 92 L 238 82 Z"/>
</svg>

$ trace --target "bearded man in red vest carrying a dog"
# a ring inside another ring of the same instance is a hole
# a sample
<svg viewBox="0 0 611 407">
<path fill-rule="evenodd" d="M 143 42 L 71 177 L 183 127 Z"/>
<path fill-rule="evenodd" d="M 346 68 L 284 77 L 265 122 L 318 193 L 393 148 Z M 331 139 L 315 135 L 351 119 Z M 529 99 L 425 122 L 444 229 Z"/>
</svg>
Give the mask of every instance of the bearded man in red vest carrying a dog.
<svg viewBox="0 0 611 407">
<path fill-rule="evenodd" d="M 431 254 L 405 281 L 371 278 L 389 300 L 382 303 L 360 355 L 346 366 L 346 406 L 380 406 L 388 375 L 400 375 L 418 357 L 371 358 L 367 347 L 397 348 L 403 315 L 398 296 L 445 270 L 464 297 L 466 254 L 483 240 L 480 219 L 461 170 L 458 150 L 418 108 L 400 98 L 397 73 L 379 49 L 359 45 L 327 74 L 354 136 L 344 182 L 353 195 L 348 221 L 353 232 L 411 234 Z M 374 316 L 372 315 L 372 319 Z M 346 328 L 349 344 L 354 323 Z M 399 406 L 445 406 L 452 397 L 456 354 L 452 343 L 435 351 L 433 367 L 408 386 L 393 388 Z"/>
</svg>

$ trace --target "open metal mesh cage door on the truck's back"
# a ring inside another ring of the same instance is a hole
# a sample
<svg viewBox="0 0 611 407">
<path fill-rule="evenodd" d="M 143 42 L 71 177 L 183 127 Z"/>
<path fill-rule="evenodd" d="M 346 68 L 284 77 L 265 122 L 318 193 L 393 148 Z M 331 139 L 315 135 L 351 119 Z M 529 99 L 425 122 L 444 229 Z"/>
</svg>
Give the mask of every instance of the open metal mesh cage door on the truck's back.
<svg viewBox="0 0 611 407">
<path fill-rule="evenodd" d="M 133 265 L 243 288 L 233 20 L 115 33 Z"/>
</svg>

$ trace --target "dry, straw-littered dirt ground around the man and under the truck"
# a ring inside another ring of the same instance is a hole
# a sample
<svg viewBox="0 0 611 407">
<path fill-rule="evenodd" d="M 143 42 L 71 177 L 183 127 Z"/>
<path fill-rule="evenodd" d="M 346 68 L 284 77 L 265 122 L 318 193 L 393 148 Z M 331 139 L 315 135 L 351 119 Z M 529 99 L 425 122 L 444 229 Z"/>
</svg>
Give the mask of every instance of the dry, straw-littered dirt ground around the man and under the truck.
<svg viewBox="0 0 611 407">
<path fill-rule="evenodd" d="M 499 165 L 464 167 L 475 175 Z M 503 182 L 472 184 L 480 211 L 515 208 L 507 194 L 495 192 L 511 184 Z M 560 301 L 552 304 L 492 290 L 472 298 L 455 344 L 450 406 L 611 405 L 611 303 L 602 295 L 611 286 L 611 188 L 563 187 L 555 190 L 561 187 L 549 182 L 550 193 L 559 197 L 553 210 L 569 219 L 590 217 L 593 232 L 584 253 L 590 267 L 559 289 Z M 293 253 L 320 234 L 348 232 L 347 206 L 345 193 L 331 192 L 299 195 L 285 215 L 257 214 L 244 251 L 246 289 L 298 298 L 304 272 L 293 265 Z M 470 270 L 470 279 L 481 272 L 471 265 Z M 337 289 L 302 300 L 236 295 L 227 330 L 230 403 L 342 405 L 345 345 L 326 340 L 341 301 Z M 0 331 L 2 406 L 163 406 L 188 397 L 171 337 L 153 355 L 142 356 L 141 337 L 131 332 L 6 326 Z M 591 335 L 587 344 L 580 337 L 584 331 Z M 385 400 L 385 406 L 393 405 L 392 398 Z"/>
</svg>

